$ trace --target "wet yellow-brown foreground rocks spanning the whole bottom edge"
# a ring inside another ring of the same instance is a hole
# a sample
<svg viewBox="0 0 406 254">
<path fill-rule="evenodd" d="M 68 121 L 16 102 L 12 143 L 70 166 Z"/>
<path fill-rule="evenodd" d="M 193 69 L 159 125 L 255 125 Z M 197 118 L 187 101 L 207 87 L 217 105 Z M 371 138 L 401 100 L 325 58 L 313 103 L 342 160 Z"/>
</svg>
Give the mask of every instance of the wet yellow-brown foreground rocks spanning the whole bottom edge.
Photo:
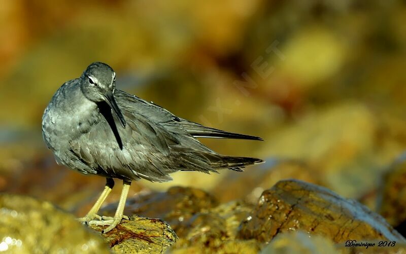
<svg viewBox="0 0 406 254">
<path fill-rule="evenodd" d="M 19 253 L 382 252 L 382 247 L 345 247 L 349 239 L 376 245 L 380 239 L 396 241 L 394 247 L 384 249 L 385 253 L 401 253 L 406 246 L 406 240 L 380 215 L 356 201 L 300 180 L 278 182 L 262 193 L 256 206 L 244 201 L 219 204 L 204 191 L 182 187 L 139 195 L 128 201 L 126 214 L 160 217 L 168 223 L 130 215 L 130 220 L 123 220 L 112 231 L 101 234 L 107 226 L 86 228 L 49 202 L 2 194 L 0 250 Z M 104 213 L 114 213 L 115 207 L 116 204 L 108 205 Z"/>
</svg>

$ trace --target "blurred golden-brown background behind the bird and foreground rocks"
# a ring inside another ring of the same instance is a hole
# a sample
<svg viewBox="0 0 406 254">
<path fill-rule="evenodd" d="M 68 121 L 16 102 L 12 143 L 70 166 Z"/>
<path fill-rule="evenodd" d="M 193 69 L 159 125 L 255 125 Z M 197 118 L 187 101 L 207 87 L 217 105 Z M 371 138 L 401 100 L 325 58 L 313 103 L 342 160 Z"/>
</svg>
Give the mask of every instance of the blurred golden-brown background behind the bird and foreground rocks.
<svg viewBox="0 0 406 254">
<path fill-rule="evenodd" d="M 0 190 L 87 212 L 105 180 L 58 166 L 41 118 L 65 81 L 102 61 L 118 89 L 265 140 L 202 140 L 266 163 L 141 180 L 130 196 L 180 185 L 256 202 L 297 178 L 379 210 L 406 148 L 405 24 L 404 1 L 2 1 Z"/>
</svg>

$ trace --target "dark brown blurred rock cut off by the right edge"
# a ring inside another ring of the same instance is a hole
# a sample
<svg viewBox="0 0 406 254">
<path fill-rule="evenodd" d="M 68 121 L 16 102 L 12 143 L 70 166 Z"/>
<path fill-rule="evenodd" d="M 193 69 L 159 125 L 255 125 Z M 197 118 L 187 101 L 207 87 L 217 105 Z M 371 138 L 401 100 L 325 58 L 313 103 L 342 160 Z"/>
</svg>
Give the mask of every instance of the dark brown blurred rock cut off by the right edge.
<svg viewBox="0 0 406 254">
<path fill-rule="evenodd" d="M 406 155 L 397 160 L 383 177 L 379 213 L 394 227 L 406 221 Z"/>
</svg>

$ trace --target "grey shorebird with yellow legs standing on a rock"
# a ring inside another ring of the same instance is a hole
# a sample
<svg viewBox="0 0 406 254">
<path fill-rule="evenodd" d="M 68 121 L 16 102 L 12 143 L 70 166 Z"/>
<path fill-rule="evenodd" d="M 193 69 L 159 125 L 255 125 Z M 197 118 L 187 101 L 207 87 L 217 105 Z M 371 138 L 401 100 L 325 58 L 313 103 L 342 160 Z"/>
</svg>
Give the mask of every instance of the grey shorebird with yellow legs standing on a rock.
<svg viewBox="0 0 406 254">
<path fill-rule="evenodd" d="M 116 74 L 107 64 L 90 64 L 78 79 L 64 83 L 54 94 L 42 118 L 42 134 L 58 164 L 84 174 L 106 178 L 106 187 L 94 206 L 79 221 L 114 229 L 122 219 L 132 180 L 172 180 L 179 170 L 242 171 L 260 159 L 220 155 L 196 138 L 262 140 L 179 118 L 152 102 L 115 89 Z M 123 181 L 114 217 L 97 212 L 114 187 Z"/>
</svg>

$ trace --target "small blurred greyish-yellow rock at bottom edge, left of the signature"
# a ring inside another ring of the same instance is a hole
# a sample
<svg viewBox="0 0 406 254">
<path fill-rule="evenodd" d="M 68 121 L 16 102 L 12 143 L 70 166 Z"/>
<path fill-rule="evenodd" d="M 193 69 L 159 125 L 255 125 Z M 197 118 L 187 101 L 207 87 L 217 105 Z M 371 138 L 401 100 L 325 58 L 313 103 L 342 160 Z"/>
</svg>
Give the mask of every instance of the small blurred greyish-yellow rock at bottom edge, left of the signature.
<svg viewBox="0 0 406 254">
<path fill-rule="evenodd" d="M 317 253 L 341 253 L 335 248 L 334 243 L 323 236 L 310 235 L 304 231 L 293 231 L 278 234 L 261 254 L 317 254 Z"/>
</svg>

